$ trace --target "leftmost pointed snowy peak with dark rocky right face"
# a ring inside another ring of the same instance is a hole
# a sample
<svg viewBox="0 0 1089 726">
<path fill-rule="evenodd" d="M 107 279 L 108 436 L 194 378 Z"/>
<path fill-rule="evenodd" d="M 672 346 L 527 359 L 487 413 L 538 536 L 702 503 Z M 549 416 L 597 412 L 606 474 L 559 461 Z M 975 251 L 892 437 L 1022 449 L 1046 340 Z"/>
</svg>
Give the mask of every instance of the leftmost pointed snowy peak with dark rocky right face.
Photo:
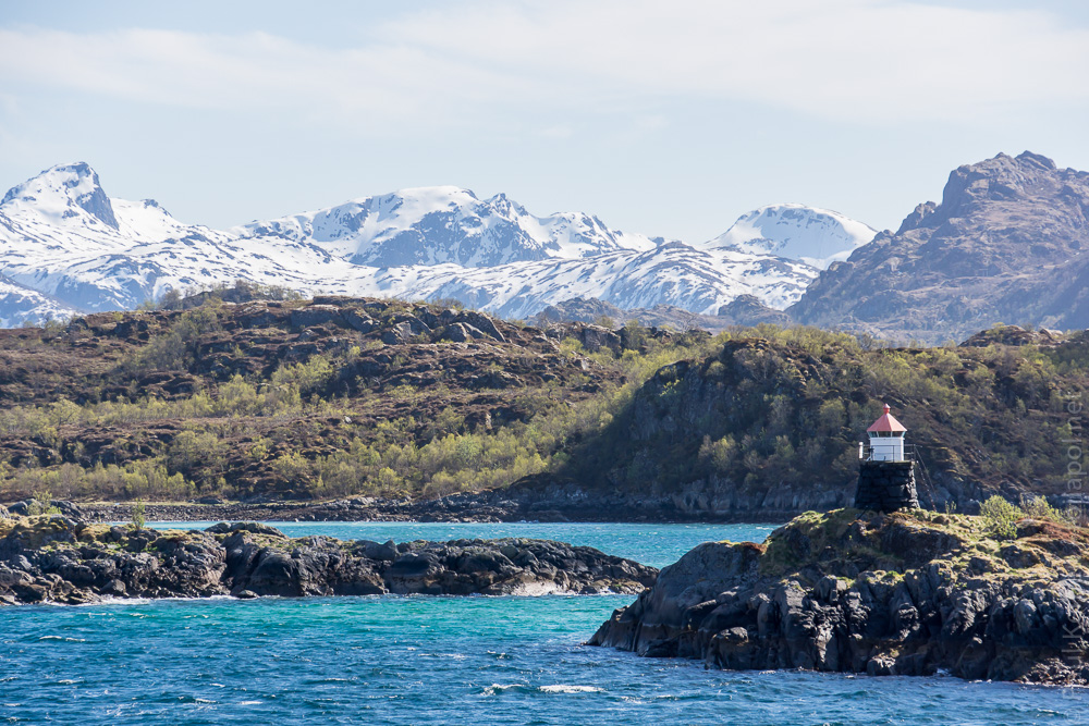
<svg viewBox="0 0 1089 726">
<path fill-rule="evenodd" d="M 118 229 L 113 207 L 98 181 L 98 173 L 85 161 L 50 167 L 9 189 L 0 207 L 12 212 L 29 210 L 57 221 L 78 217 L 78 208 L 99 222 Z"/>
</svg>

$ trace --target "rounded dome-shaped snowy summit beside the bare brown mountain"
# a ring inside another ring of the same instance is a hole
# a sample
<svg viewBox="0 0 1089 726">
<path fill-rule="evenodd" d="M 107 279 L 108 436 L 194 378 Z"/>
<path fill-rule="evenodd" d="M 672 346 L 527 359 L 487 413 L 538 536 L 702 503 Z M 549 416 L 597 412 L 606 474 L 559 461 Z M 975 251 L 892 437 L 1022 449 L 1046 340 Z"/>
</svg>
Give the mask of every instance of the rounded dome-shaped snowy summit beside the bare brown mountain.
<svg viewBox="0 0 1089 726">
<path fill-rule="evenodd" d="M 827 269 L 871 241 L 877 230 L 829 209 L 770 205 L 743 214 L 723 234 L 699 245 L 754 255 L 778 255 Z"/>
</svg>

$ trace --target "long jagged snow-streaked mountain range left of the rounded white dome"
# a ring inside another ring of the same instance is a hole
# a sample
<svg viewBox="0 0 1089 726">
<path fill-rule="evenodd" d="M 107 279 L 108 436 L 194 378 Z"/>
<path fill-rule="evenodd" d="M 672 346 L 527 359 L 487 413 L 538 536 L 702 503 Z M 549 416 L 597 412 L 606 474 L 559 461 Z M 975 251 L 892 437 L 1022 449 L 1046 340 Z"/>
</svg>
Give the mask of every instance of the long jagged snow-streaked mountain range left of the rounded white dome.
<svg viewBox="0 0 1089 726">
<path fill-rule="evenodd" d="M 218 231 L 180 222 L 150 199 L 110 198 L 90 167 L 68 164 L 0 201 L 0 322 L 133 308 L 169 290 L 237 279 L 306 293 L 454 297 L 512 317 L 576 296 L 710 315 L 738 295 L 775 308 L 797 300 L 818 269 L 788 258 L 822 248 L 783 244 L 769 254 L 738 224 L 689 246 L 442 186 Z M 845 218 L 842 227 L 868 230 Z M 808 234 L 804 224 L 793 235 L 785 223 L 760 230 L 787 242 Z"/>
</svg>

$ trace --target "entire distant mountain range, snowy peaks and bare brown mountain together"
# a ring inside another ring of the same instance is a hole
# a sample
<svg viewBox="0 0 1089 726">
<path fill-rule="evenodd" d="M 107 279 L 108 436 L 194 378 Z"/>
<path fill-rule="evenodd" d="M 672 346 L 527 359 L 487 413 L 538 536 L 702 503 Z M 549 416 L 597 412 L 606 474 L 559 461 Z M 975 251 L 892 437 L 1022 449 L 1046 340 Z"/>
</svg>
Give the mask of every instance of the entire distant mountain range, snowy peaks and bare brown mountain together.
<svg viewBox="0 0 1089 726">
<path fill-rule="evenodd" d="M 582 212 L 536 217 L 505 195 L 453 186 L 211 230 L 150 199 L 109 197 L 84 163 L 53 167 L 0 201 L 0 325 L 237 279 L 454 298 L 510 318 L 619 309 L 711 329 L 795 321 L 931 343 L 998 322 L 1086 328 L 1089 173 L 1000 153 L 954 170 L 941 204 L 919 205 L 895 233 L 775 205 L 693 244 Z"/>
</svg>

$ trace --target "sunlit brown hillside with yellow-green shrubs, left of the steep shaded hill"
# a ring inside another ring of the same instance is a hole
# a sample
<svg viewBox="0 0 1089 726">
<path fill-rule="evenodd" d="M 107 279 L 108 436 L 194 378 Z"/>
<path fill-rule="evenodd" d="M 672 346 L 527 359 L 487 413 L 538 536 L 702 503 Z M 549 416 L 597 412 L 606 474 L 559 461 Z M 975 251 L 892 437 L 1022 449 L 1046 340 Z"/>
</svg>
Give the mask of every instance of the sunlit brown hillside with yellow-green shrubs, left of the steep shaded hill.
<svg viewBox="0 0 1089 726">
<path fill-rule="evenodd" d="M 710 344 L 397 300 L 199 302 L 0 331 L 0 499 L 502 488 Z"/>
</svg>

